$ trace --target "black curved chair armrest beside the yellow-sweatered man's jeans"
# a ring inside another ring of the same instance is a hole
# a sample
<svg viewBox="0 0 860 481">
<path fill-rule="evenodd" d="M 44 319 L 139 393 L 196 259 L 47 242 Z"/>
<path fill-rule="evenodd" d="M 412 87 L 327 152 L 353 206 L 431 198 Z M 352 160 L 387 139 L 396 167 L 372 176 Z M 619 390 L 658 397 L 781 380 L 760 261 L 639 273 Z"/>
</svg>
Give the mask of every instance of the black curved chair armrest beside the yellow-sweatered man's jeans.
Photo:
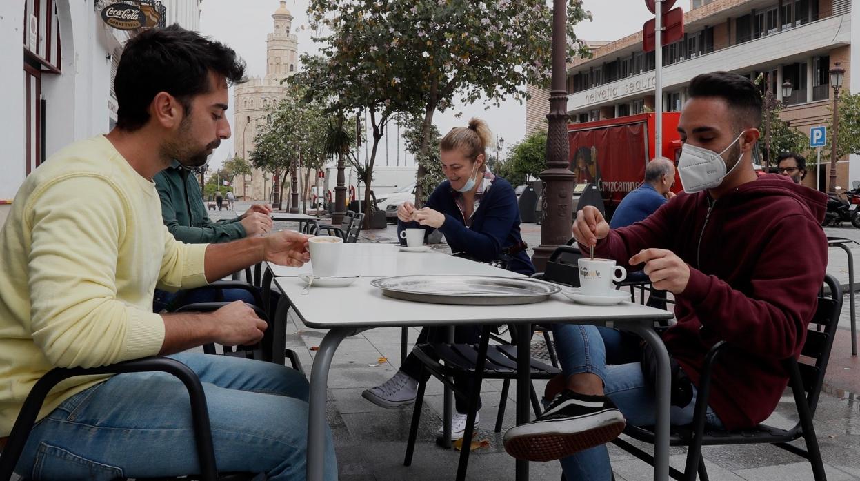
<svg viewBox="0 0 860 481">
<path fill-rule="evenodd" d="M 161 371 L 174 375 L 188 391 L 191 401 L 191 415 L 194 423 L 194 439 L 197 441 L 197 459 L 200 463 L 200 479 L 249 479 L 251 473 L 225 473 L 225 478 L 218 477 L 215 464 L 215 449 L 212 445 L 212 430 L 209 423 L 209 412 L 206 411 L 206 393 L 200 384 L 197 374 L 194 374 L 185 364 L 168 357 L 143 357 L 133 361 L 118 362 L 98 368 L 53 368 L 36 382 L 33 389 L 24 400 L 22 410 L 15 419 L 6 447 L 0 454 L 0 479 L 8 480 L 15 471 L 15 465 L 27 444 L 30 431 L 33 429 L 36 417 L 39 415 L 45 397 L 53 387 L 71 377 L 93 374 L 121 374 Z"/>
</svg>

